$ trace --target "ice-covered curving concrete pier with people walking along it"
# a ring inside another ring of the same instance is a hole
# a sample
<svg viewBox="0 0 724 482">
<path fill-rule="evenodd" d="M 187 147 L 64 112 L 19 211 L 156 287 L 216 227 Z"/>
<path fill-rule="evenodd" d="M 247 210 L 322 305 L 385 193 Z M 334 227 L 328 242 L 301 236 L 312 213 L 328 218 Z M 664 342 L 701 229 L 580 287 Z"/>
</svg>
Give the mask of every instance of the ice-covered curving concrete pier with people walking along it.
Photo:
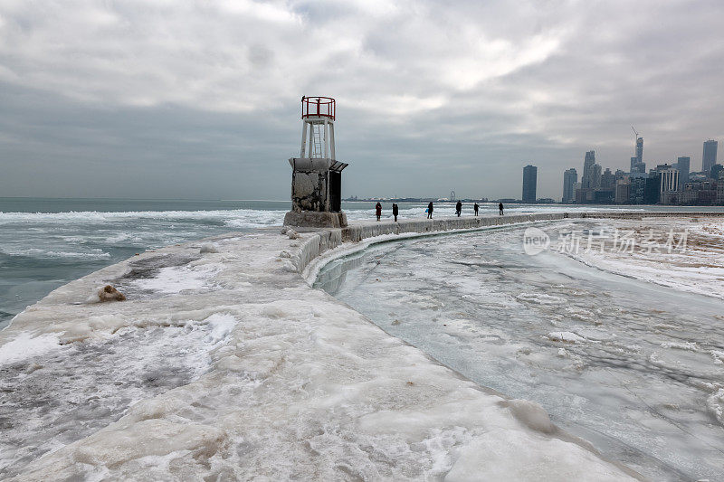
<svg viewBox="0 0 724 482">
<path fill-rule="evenodd" d="M 230 233 L 75 280 L 0 332 L 0 478 L 638 477 L 300 276 L 359 241 L 584 215 Z M 89 302 L 105 284 L 129 300 Z"/>
</svg>

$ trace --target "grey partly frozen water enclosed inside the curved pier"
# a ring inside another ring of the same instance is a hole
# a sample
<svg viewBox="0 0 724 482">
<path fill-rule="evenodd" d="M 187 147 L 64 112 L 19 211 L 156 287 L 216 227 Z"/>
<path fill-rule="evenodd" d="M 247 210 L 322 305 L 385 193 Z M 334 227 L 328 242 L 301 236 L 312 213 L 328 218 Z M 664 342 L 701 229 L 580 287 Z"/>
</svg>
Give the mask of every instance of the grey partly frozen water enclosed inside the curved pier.
<svg viewBox="0 0 724 482">
<path fill-rule="evenodd" d="M 724 479 L 724 302 L 528 256 L 522 233 L 379 244 L 333 261 L 315 286 L 473 381 L 539 402 L 647 477 Z"/>
</svg>

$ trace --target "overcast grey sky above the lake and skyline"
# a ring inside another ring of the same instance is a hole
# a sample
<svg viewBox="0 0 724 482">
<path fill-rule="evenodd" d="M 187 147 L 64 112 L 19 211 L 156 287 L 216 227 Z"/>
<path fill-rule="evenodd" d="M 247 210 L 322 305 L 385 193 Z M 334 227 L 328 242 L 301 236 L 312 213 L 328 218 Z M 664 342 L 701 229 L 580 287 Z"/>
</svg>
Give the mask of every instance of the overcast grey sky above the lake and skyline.
<svg viewBox="0 0 724 482">
<path fill-rule="evenodd" d="M 632 125 L 699 170 L 722 85 L 721 0 L 2 0 L 0 196 L 287 199 L 324 95 L 345 196 L 559 199 Z"/>
</svg>

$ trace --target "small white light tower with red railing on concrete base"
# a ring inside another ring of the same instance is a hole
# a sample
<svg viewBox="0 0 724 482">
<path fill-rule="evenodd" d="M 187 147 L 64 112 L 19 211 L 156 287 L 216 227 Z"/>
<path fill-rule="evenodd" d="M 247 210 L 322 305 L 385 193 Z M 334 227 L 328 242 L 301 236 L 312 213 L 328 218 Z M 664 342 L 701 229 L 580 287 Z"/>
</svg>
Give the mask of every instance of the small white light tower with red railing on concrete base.
<svg viewBox="0 0 724 482">
<path fill-rule="evenodd" d="M 291 165 L 290 226 L 347 226 L 342 213 L 342 171 L 348 165 L 336 159 L 334 120 L 337 105 L 329 97 L 301 98 L 301 149 Z"/>
</svg>

